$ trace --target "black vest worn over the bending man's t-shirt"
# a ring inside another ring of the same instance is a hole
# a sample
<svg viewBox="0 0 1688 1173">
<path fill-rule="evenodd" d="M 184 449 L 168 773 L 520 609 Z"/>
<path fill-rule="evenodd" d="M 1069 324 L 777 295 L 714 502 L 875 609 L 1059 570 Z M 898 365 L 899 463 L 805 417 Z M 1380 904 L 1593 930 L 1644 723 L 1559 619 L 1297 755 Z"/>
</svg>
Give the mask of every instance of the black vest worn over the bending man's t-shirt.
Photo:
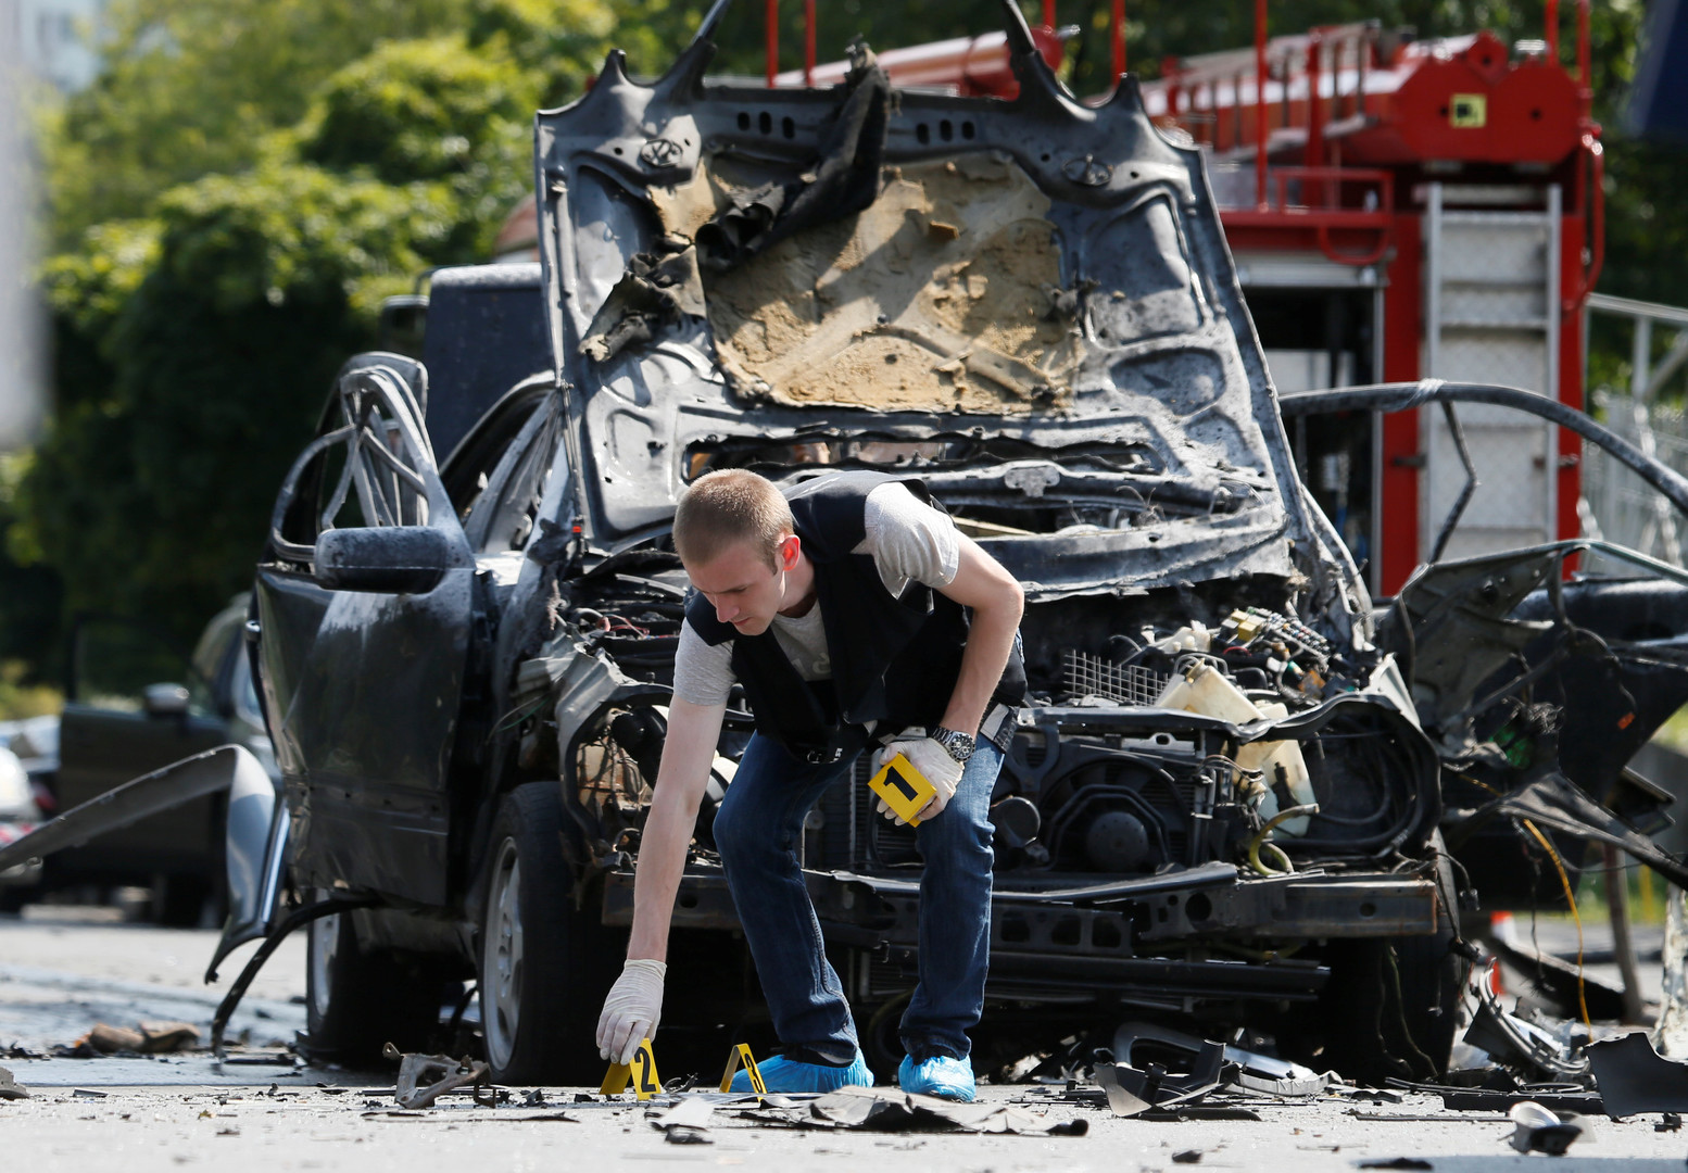
<svg viewBox="0 0 1688 1173">
<path fill-rule="evenodd" d="M 733 640 L 733 673 L 744 685 L 758 732 L 810 759 L 861 744 L 851 727 L 868 721 L 885 722 L 890 731 L 939 724 L 960 675 L 966 608 L 922 582 L 910 582 L 901 597 L 893 596 L 873 555 L 851 554 L 866 537 L 868 493 L 890 481 L 901 481 L 922 501 L 944 508 L 920 481 L 886 473 L 832 473 L 782 489 L 815 569 L 830 680 L 805 682 L 771 626 L 744 636 L 731 623 L 721 623 L 704 596 L 694 592 L 685 604 L 685 621 L 704 643 Z M 993 700 L 1013 707 L 1025 694 L 1026 670 L 1016 640 Z"/>
</svg>

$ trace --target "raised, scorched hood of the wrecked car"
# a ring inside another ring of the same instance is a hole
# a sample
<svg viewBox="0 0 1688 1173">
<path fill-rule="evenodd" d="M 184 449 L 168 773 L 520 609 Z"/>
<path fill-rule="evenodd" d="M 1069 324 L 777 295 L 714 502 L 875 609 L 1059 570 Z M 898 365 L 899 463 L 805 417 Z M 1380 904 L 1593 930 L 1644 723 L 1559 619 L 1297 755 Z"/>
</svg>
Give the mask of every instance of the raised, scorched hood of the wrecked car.
<svg viewBox="0 0 1688 1173">
<path fill-rule="evenodd" d="M 719 10 L 662 79 L 611 54 L 537 122 L 592 545 L 658 533 L 709 468 L 842 466 L 908 469 L 960 511 L 1111 505 L 974 530 L 1033 594 L 1345 559 L 1296 481 L 1200 154 L 1129 79 L 1079 103 L 1006 5 L 1013 101 L 896 91 L 871 54 L 832 89 L 706 84 Z"/>
</svg>

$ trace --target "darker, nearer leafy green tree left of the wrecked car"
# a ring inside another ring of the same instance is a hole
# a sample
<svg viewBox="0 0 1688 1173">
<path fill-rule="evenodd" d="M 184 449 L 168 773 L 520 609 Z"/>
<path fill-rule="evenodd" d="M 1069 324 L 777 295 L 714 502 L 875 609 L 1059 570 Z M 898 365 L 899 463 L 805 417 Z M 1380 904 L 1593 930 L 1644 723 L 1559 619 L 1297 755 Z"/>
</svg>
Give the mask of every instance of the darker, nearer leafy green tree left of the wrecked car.
<svg viewBox="0 0 1688 1173">
<path fill-rule="evenodd" d="M 116 312 L 86 311 L 110 383 L 61 400 L 12 547 L 59 572 L 68 609 L 186 640 L 250 579 L 336 366 L 370 344 L 380 292 L 451 235 L 452 199 L 280 165 L 179 187 L 157 213 L 150 272 Z M 57 263 L 59 305 L 96 302 L 98 270 Z"/>
</svg>

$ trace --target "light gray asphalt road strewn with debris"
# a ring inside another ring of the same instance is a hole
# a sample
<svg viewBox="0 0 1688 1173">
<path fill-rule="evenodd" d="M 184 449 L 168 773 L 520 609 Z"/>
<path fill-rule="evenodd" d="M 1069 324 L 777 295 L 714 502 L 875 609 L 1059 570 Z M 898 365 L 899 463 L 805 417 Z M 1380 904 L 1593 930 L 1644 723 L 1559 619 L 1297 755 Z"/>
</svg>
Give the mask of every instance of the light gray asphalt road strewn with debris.
<svg viewBox="0 0 1688 1173">
<path fill-rule="evenodd" d="M 204 1030 L 226 986 L 201 984 L 211 932 L 89 922 L 86 915 L 0 916 L 0 1055 L 71 1043 L 96 1021 L 184 1019 Z M 250 949 L 250 947 L 248 947 Z M 243 959 L 225 965 L 225 981 Z M 235 1031 L 255 1053 L 304 1026 L 304 947 L 289 942 L 260 976 Z M 660 1050 L 660 1038 L 658 1038 Z M 218 1065 L 208 1055 L 100 1060 L 0 1057 L 24 1100 L 0 1100 L 0 1168 L 59 1173 L 228 1170 L 657 1170 L 694 1166 L 858 1173 L 1018 1173 L 1062 1170 L 1136 1173 L 1202 1168 L 1352 1170 L 1415 1158 L 1445 1173 L 1539 1168 L 1685 1168 L 1688 1131 L 1658 1132 L 1656 1119 L 1599 1121 L 1566 1158 L 1519 1156 L 1511 1126 L 1457 1114 L 1435 1097 L 1401 1104 L 1328 1097 L 1259 1100 L 1258 1121 L 1143 1122 L 1060 1099 L 1060 1089 L 981 1089 L 991 1104 L 1021 1104 L 1052 1121 L 1082 1119 L 1084 1136 L 885 1134 L 809 1131 L 717 1109 L 706 1144 L 674 1144 L 653 1127 L 650 1105 L 577 1102 L 544 1089 L 544 1105 L 478 1107 L 447 1097 L 425 1112 L 400 1112 L 393 1073 Z M 1423 1168 L 1423 1166 L 1413 1166 Z"/>
</svg>

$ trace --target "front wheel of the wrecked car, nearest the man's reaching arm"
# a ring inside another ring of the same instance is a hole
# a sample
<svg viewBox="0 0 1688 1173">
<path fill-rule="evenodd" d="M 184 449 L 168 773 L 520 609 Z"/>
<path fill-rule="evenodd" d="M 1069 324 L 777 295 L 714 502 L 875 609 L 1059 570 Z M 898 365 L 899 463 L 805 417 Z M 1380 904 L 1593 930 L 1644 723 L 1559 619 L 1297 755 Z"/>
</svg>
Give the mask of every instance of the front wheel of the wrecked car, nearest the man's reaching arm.
<svg viewBox="0 0 1688 1173">
<path fill-rule="evenodd" d="M 557 783 L 505 795 L 481 884 L 479 996 L 498 1084 L 596 1084 L 606 933 L 574 906 Z"/>
</svg>

